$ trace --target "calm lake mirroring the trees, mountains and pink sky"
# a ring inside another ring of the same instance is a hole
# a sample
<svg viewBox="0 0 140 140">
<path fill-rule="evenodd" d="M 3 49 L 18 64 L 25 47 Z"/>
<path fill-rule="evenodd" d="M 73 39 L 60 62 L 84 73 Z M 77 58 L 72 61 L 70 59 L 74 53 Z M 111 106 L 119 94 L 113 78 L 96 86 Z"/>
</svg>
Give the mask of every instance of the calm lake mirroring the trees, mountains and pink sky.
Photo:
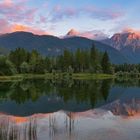
<svg viewBox="0 0 140 140">
<path fill-rule="evenodd" d="M 112 139 L 140 139 L 140 80 L 0 83 L 0 140 Z"/>
</svg>

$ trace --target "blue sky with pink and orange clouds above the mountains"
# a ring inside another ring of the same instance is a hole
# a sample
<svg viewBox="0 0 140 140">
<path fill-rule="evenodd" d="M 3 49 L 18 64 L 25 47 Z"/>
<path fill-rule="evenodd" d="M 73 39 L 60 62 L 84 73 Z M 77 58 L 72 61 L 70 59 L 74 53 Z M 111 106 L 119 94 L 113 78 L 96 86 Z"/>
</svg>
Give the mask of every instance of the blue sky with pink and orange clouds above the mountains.
<svg viewBox="0 0 140 140">
<path fill-rule="evenodd" d="M 140 0 L 0 0 L 0 34 L 28 31 L 94 38 L 140 31 Z"/>
</svg>

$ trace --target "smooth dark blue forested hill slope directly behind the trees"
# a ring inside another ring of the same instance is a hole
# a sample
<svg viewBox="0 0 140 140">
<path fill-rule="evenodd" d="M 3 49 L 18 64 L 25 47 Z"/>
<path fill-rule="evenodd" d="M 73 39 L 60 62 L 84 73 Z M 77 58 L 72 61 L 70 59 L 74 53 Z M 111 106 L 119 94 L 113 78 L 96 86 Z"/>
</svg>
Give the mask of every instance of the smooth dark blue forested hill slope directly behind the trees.
<svg viewBox="0 0 140 140">
<path fill-rule="evenodd" d="M 9 50 L 17 47 L 25 48 L 29 51 L 36 49 L 42 55 L 56 56 L 64 49 L 75 51 L 77 48 L 89 49 L 95 43 L 99 51 L 107 51 L 112 63 L 125 63 L 127 59 L 116 49 L 98 41 L 93 41 L 84 37 L 71 37 L 60 39 L 49 35 L 34 35 L 28 32 L 14 32 L 0 36 L 0 46 Z M 116 57 L 117 56 L 117 57 Z"/>
</svg>

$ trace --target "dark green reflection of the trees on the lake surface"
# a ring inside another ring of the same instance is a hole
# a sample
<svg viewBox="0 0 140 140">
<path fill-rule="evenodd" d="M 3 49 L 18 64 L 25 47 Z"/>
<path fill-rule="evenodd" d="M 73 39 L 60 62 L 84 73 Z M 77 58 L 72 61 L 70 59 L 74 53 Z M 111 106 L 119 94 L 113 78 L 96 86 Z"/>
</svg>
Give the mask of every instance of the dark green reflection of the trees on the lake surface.
<svg viewBox="0 0 140 140">
<path fill-rule="evenodd" d="M 47 97 L 48 104 L 52 101 L 58 104 L 61 102 L 64 110 L 70 108 L 75 110 L 78 106 L 82 108 L 82 105 L 94 108 L 96 105 L 106 102 L 111 83 L 111 80 L 72 79 L 3 83 L 0 84 L 0 99 L 24 105 L 26 102 L 39 102 L 40 98 Z M 59 110 L 61 109 L 59 108 Z"/>
</svg>

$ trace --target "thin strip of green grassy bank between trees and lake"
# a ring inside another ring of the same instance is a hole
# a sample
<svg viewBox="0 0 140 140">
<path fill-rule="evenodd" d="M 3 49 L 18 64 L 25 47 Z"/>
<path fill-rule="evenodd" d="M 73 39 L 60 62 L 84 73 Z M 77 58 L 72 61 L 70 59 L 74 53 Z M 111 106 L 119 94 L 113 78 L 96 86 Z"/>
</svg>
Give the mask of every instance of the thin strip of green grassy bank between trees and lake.
<svg viewBox="0 0 140 140">
<path fill-rule="evenodd" d="M 17 74 L 13 76 L 0 76 L 1 82 L 22 81 L 25 79 L 109 79 L 114 78 L 109 74 L 91 74 L 91 73 L 74 73 L 72 75 L 66 73 L 47 73 L 47 74 Z"/>
</svg>

